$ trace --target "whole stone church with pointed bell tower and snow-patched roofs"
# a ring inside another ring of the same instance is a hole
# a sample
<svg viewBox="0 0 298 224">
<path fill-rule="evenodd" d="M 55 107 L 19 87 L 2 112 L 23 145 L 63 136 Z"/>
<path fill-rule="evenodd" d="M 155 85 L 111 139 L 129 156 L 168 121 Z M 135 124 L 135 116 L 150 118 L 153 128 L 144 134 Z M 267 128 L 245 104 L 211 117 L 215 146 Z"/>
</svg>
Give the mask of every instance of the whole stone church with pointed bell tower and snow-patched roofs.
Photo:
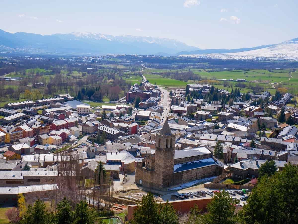
<svg viewBox="0 0 298 224">
<path fill-rule="evenodd" d="M 170 189 L 193 180 L 220 175 L 224 164 L 205 147 L 175 150 L 176 137 L 166 120 L 156 135 L 155 150 L 136 164 L 136 183 L 152 189 Z"/>
</svg>

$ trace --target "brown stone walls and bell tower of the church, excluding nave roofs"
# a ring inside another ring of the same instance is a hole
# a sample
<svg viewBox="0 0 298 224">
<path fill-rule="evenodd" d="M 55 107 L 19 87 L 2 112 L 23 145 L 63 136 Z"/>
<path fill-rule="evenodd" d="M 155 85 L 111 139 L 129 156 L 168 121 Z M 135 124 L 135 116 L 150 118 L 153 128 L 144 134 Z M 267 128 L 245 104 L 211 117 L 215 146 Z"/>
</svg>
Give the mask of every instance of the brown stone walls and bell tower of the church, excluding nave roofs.
<svg viewBox="0 0 298 224">
<path fill-rule="evenodd" d="M 155 154 L 147 154 L 145 166 L 136 163 L 136 183 L 146 188 L 169 189 L 181 183 L 221 174 L 223 167 L 216 164 L 174 172 L 174 165 L 212 158 L 211 153 L 175 159 L 175 135 L 167 121 L 155 137 Z"/>
</svg>

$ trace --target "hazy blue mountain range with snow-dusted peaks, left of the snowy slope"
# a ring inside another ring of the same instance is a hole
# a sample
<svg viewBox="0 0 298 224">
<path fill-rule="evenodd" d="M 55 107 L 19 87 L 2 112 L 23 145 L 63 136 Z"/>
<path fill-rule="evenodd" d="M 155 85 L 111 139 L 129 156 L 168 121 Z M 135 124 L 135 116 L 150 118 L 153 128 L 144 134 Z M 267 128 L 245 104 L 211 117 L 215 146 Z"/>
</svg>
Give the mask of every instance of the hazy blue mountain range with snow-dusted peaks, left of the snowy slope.
<svg viewBox="0 0 298 224">
<path fill-rule="evenodd" d="M 68 34 L 38 35 L 8 33 L 0 30 L 0 51 L 65 55 L 104 54 L 162 54 L 174 55 L 179 51 L 197 50 L 180 41 L 101 33 L 72 32 Z"/>
</svg>

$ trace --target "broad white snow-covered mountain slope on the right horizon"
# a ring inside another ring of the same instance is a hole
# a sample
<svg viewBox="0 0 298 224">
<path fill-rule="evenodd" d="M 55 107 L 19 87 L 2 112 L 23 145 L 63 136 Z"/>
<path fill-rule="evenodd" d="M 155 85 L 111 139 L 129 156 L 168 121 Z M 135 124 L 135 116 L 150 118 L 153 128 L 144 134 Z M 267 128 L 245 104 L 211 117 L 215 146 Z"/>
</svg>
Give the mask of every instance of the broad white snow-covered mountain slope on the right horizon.
<svg viewBox="0 0 298 224">
<path fill-rule="evenodd" d="M 298 60 L 298 38 L 280 44 L 264 46 L 257 50 L 227 52 L 222 54 L 183 54 L 180 56 L 207 57 L 220 59 L 271 59 L 271 60 Z"/>
</svg>

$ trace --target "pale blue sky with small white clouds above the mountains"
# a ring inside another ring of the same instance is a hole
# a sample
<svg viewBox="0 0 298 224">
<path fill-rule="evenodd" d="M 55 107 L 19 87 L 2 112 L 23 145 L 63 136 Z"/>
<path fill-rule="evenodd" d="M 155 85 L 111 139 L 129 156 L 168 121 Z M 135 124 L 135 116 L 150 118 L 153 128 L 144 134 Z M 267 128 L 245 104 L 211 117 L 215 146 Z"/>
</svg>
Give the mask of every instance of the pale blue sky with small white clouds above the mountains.
<svg viewBox="0 0 298 224">
<path fill-rule="evenodd" d="M 297 0 L 1 0 L 0 29 L 170 38 L 207 48 L 297 38 Z"/>
</svg>

